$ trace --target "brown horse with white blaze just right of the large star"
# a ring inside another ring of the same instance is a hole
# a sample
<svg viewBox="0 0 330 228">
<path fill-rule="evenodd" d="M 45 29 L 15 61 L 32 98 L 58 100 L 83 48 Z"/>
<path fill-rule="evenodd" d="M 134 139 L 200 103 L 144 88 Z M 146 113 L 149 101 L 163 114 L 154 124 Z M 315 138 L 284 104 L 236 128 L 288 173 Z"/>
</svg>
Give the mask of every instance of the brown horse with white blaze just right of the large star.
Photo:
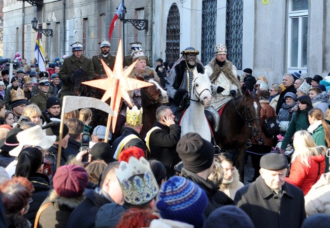
<svg viewBox="0 0 330 228">
<path fill-rule="evenodd" d="M 157 108 L 161 105 L 166 105 L 169 102 L 169 97 L 167 92 L 160 86 L 159 81 L 156 79 L 147 76 L 144 79 L 142 77 L 138 77 L 137 79 L 153 83 L 153 86 L 141 89 L 143 125 L 140 135 L 144 138 L 156 121 Z"/>
</svg>

